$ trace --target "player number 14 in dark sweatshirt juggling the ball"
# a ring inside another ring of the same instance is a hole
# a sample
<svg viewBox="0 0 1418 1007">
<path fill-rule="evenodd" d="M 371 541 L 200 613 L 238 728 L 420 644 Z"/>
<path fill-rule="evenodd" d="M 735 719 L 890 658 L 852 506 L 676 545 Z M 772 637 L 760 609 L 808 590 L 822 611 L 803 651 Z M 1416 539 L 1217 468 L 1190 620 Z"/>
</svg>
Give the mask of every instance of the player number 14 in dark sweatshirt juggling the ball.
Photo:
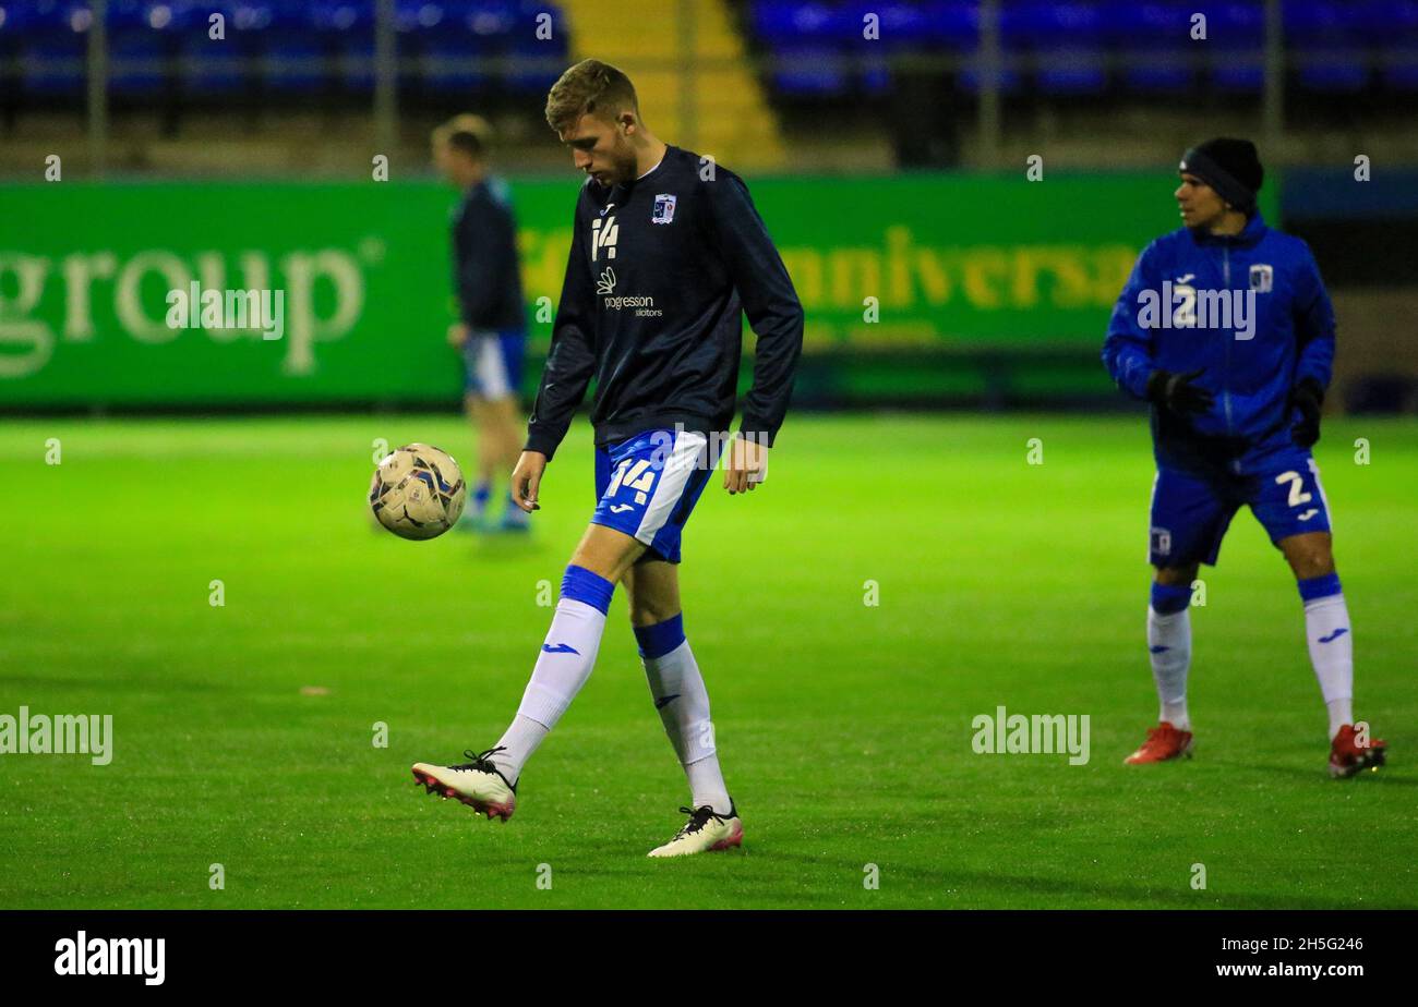
<svg viewBox="0 0 1418 1007">
<path fill-rule="evenodd" d="M 591 674 L 611 595 L 624 584 L 651 698 L 692 795 L 692 806 L 679 809 L 689 820 L 649 855 L 723 850 L 740 844 L 743 827 L 685 639 L 681 531 L 733 421 L 742 314 L 757 351 L 740 436 L 729 449 L 729 493 L 763 480 L 803 348 L 803 307 L 743 181 L 658 140 L 621 71 L 596 59 L 571 67 L 552 88 L 546 118 L 588 177 L 512 491 L 527 513 L 537 510 L 543 470 L 594 377 L 598 501 L 502 739 L 469 751 L 464 765 L 418 763 L 414 776 L 506 820 L 523 763 Z"/>
</svg>

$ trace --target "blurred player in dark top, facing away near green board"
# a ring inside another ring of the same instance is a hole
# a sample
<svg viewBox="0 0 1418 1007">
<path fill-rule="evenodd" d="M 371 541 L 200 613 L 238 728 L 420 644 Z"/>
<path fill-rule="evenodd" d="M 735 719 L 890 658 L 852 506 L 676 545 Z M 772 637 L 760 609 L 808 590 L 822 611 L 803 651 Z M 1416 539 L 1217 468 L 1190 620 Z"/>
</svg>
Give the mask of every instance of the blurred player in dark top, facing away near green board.
<svg viewBox="0 0 1418 1007">
<path fill-rule="evenodd" d="M 522 443 L 518 388 L 526 354 L 516 218 L 506 184 L 488 167 L 491 127 L 461 115 L 434 130 L 434 163 L 462 201 L 452 214 L 452 280 L 458 322 L 448 343 L 467 368 L 464 402 L 478 432 L 478 476 L 459 527 L 491 525 L 492 487 L 516 465 Z M 510 496 L 499 525 L 526 531 L 527 516 Z"/>
</svg>

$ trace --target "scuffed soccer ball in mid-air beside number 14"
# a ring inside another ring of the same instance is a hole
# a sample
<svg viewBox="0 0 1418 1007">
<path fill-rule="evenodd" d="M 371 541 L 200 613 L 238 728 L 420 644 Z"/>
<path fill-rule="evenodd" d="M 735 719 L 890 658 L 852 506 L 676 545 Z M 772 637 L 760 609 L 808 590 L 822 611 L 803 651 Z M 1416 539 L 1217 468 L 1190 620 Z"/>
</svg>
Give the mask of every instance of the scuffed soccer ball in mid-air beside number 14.
<svg viewBox="0 0 1418 1007">
<path fill-rule="evenodd" d="M 437 538 L 458 523 L 467 499 L 452 455 L 420 443 L 381 457 L 369 487 L 374 517 L 400 538 Z"/>
</svg>

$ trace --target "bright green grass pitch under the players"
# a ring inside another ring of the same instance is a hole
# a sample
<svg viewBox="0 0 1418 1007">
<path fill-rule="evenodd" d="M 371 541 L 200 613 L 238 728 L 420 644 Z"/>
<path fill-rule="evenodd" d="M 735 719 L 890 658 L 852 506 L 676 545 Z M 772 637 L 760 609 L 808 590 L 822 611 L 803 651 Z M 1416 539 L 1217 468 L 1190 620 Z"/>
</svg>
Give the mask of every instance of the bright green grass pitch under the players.
<svg viewBox="0 0 1418 1007">
<path fill-rule="evenodd" d="M 1333 421 L 1316 452 L 1357 712 L 1394 752 L 1333 782 L 1300 602 L 1245 511 L 1194 609 L 1195 758 L 1122 765 L 1156 718 L 1143 419 L 791 416 L 766 486 L 712 482 L 688 528 L 685 625 L 746 838 L 682 861 L 645 858 L 688 792 L 623 592 L 510 823 L 408 772 L 516 708 L 539 582 L 554 598 L 593 504 L 586 421 L 523 542 L 372 528 L 376 438 L 471 460 L 444 415 L 0 428 L 0 714 L 115 732 L 108 766 L 0 756 L 0 906 L 1418 905 L 1412 421 Z M 1088 714 L 1089 762 L 976 755 L 998 705 Z"/>
</svg>

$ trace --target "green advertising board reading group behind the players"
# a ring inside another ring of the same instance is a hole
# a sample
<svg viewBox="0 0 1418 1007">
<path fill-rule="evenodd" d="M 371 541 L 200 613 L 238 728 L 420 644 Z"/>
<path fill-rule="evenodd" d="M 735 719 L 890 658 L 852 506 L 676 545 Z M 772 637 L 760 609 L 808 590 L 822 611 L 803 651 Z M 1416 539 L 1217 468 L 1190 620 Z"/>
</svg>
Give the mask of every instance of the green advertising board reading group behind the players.
<svg viewBox="0 0 1418 1007">
<path fill-rule="evenodd" d="M 579 184 L 512 186 L 535 361 Z M 1095 350 L 1137 252 L 1176 227 L 1174 186 L 1022 171 L 750 180 L 821 358 Z M 454 203 L 435 183 L 0 187 L 0 405 L 451 402 Z M 194 283 L 278 292 L 284 324 L 173 327 L 169 295 Z"/>
</svg>

